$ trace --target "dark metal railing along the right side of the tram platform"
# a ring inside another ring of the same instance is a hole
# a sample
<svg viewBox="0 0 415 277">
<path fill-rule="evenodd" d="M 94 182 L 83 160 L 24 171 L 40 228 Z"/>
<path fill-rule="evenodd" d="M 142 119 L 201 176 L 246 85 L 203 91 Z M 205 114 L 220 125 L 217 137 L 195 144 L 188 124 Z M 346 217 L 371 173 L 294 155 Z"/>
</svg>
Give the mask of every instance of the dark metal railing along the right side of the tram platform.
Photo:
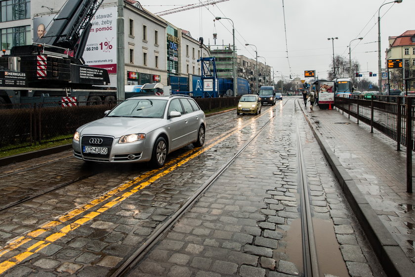
<svg viewBox="0 0 415 277">
<path fill-rule="evenodd" d="M 370 99 L 335 97 L 334 105 L 382 134 L 407 147 L 407 192 L 412 193 L 412 151 L 415 150 L 413 96 L 371 95 Z M 408 108 L 409 107 L 409 108 Z M 408 112 L 409 111 L 409 112 Z"/>
</svg>

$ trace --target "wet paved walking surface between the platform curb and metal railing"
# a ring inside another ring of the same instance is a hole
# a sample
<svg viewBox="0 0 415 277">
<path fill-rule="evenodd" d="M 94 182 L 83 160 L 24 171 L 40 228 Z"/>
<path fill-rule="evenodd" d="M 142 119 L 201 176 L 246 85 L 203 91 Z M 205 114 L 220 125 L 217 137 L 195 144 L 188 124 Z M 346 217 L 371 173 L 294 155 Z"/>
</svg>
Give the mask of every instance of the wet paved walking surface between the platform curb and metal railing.
<svg viewBox="0 0 415 277">
<path fill-rule="evenodd" d="M 408 257 L 401 269 L 408 270 L 408 264 L 415 263 L 415 195 L 406 192 L 406 148 L 397 151 L 394 140 L 378 131 L 370 133 L 370 126 L 357 124 L 342 111 L 320 110 L 317 106 L 313 111 L 303 111 L 323 141 L 320 145 L 330 148 L 331 154 L 327 155 L 334 154 L 358 187 L 357 195 L 365 197 L 383 224 L 378 226 L 383 230 L 374 231 L 390 233 Z M 398 262 L 398 270 L 402 264 Z"/>
</svg>

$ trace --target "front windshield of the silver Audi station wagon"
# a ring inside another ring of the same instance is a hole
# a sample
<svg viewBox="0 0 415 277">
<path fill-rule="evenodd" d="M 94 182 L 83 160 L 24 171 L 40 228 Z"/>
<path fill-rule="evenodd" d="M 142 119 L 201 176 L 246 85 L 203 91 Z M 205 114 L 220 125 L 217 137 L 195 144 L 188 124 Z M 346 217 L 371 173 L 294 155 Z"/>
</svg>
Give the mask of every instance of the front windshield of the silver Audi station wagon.
<svg viewBox="0 0 415 277">
<path fill-rule="evenodd" d="M 166 99 L 127 99 L 116 106 L 107 117 L 163 118 Z"/>
</svg>

